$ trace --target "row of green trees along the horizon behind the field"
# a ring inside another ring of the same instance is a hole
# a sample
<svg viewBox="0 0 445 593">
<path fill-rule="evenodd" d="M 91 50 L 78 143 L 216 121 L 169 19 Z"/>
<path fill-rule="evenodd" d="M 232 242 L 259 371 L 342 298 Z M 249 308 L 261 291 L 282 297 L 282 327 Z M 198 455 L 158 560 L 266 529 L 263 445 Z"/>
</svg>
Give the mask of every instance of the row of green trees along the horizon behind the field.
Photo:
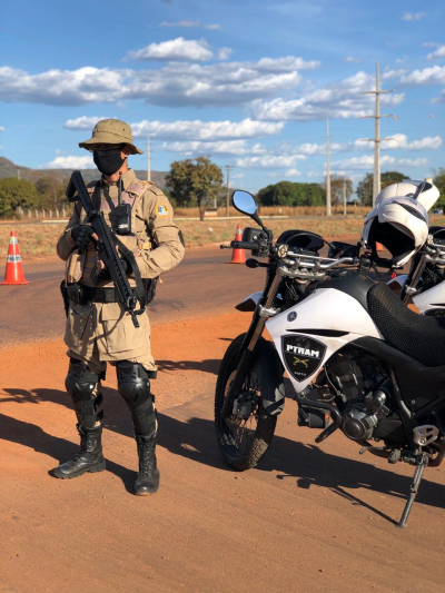
<svg viewBox="0 0 445 593">
<path fill-rule="evenodd" d="M 382 188 L 408 177 L 399 171 L 382 174 Z M 65 189 L 68 179 L 58 180 L 43 176 L 36 182 L 24 179 L 0 179 L 0 218 L 17 217 L 20 209 L 61 209 L 67 204 Z M 445 168 L 435 171 L 434 182 L 441 191 L 437 206 L 445 207 Z M 214 201 L 222 206 L 226 201 L 224 174 L 220 167 L 206 157 L 174 161 L 166 178 L 166 194 L 174 206 L 198 207 L 204 219 L 206 207 Z M 344 196 L 350 200 L 353 182 L 347 177 L 330 177 L 333 206 L 342 204 Z M 366 174 L 357 185 L 358 204 L 373 204 L 373 174 Z M 326 184 L 278 181 L 260 189 L 257 194 L 260 206 L 320 206 L 326 204 Z"/>
</svg>

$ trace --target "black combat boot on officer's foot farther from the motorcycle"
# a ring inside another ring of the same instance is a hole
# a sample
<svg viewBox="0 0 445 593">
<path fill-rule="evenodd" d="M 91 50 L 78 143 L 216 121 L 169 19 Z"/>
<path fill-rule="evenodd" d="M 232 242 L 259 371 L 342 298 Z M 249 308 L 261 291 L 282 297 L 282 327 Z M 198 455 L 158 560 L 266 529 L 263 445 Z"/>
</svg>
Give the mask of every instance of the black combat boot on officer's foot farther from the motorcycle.
<svg viewBox="0 0 445 593">
<path fill-rule="evenodd" d="M 67 480 L 78 477 L 86 472 L 103 472 L 105 459 L 102 455 L 102 426 L 86 428 L 77 425 L 80 435 L 80 451 L 70 462 L 62 463 L 56 467 L 53 474 L 56 477 Z"/>
</svg>

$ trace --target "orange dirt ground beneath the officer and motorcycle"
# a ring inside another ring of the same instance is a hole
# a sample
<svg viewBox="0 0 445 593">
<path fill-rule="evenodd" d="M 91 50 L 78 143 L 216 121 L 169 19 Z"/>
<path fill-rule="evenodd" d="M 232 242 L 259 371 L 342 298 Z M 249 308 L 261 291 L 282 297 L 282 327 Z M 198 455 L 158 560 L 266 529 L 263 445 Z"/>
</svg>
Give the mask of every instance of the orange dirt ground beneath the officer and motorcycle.
<svg viewBox="0 0 445 593">
<path fill-rule="evenodd" d="M 208 266 L 210 274 L 202 264 L 194 281 L 197 295 L 211 278 L 221 293 Z M 20 334 L 18 345 L 0 349 L 0 592 L 443 591 L 443 471 L 426 471 L 408 527 L 396 530 L 412 470 L 359 457 L 338 433 L 315 445 L 316 433 L 296 426 L 290 399 L 257 470 L 239 474 L 221 463 L 212 428 L 216 373 L 228 340 L 248 322 L 247 314 L 227 313 L 235 300 L 228 294 L 243 281 L 248 293 L 263 279 L 225 269 L 225 297 L 202 302 L 201 317 L 184 291 L 172 296 L 185 308 L 157 312 L 155 496 L 131 494 L 136 446 L 112 373 L 105 389 L 107 471 L 58 481 L 51 468 L 77 451 L 63 344 L 50 336 L 27 344 Z M 20 304 L 24 316 L 20 298 L 17 291 L 8 307 Z"/>
</svg>

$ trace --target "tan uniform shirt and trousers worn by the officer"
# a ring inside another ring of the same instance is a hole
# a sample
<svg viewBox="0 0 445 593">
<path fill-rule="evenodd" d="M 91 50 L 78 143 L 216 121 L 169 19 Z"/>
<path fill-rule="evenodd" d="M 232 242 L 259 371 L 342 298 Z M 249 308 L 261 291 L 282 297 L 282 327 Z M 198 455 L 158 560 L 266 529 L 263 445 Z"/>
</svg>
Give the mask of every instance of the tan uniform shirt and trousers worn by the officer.
<svg viewBox="0 0 445 593">
<path fill-rule="evenodd" d="M 100 208 L 108 224 L 118 204 L 117 184 L 103 179 L 90 184 L 89 191 L 96 207 Z M 122 196 L 132 206 L 132 236 L 119 236 L 136 257 L 142 278 L 156 278 L 170 270 L 184 257 L 185 248 L 174 223 L 172 208 L 162 191 L 150 182 L 138 181 L 132 169 L 122 176 Z M 71 237 L 71 227 L 83 224 L 86 213 L 80 204 L 58 240 L 57 254 L 67 261 L 68 283 L 102 287 L 112 283 L 91 281 L 97 253 L 89 248 L 79 253 Z M 130 284 L 135 285 L 131 280 Z M 70 302 L 65 343 L 68 355 L 83 360 L 97 374 L 105 370 L 106 362 L 131 360 L 140 363 L 147 370 L 156 365 L 150 350 L 150 325 L 147 315 L 138 317 L 139 328 L 135 328 L 131 317 L 125 314 L 120 303 L 91 303 L 75 305 Z"/>
</svg>

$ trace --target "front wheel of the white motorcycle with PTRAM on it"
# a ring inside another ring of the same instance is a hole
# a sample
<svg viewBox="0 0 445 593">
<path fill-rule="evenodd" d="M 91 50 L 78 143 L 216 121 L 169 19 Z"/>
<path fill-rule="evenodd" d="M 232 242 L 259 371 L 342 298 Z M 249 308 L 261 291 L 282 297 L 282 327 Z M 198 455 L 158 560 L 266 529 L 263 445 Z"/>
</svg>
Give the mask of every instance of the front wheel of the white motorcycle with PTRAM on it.
<svg viewBox="0 0 445 593">
<path fill-rule="evenodd" d="M 230 384 L 235 377 L 239 363 L 239 348 L 245 334 L 241 334 L 227 348 L 218 373 L 218 380 L 215 394 L 215 428 L 219 449 L 225 461 L 239 472 L 255 467 L 266 451 L 269 448 L 274 437 L 277 417 L 268 414 L 261 402 L 264 380 L 260 365 L 254 364 L 247 373 L 239 404 L 234 406 L 234 411 L 227 419 L 220 415 L 224 401 L 227 396 Z M 261 343 L 260 338 L 258 348 Z"/>
</svg>

